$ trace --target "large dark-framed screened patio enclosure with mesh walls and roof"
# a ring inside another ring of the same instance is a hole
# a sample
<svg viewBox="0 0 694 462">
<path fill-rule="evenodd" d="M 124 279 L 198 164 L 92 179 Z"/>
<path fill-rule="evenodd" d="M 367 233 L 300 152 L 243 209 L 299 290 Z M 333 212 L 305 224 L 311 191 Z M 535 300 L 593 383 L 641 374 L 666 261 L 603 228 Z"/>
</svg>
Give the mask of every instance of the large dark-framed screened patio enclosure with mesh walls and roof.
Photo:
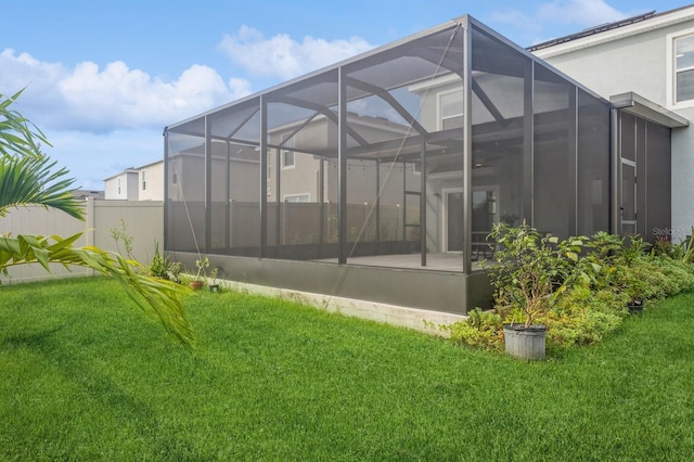
<svg viewBox="0 0 694 462">
<path fill-rule="evenodd" d="M 166 251 L 465 313 L 489 303 L 493 223 L 614 228 L 612 111 L 463 16 L 167 127 Z"/>
</svg>

